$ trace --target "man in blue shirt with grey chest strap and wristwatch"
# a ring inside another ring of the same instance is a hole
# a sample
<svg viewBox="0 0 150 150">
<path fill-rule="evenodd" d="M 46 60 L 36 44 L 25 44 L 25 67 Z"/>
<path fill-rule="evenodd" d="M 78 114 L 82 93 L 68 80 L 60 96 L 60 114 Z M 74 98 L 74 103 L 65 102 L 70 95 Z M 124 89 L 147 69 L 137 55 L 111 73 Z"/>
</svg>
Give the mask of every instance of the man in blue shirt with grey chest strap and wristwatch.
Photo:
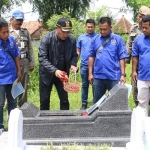
<svg viewBox="0 0 150 150">
<path fill-rule="evenodd" d="M 100 34 L 92 39 L 89 52 L 89 82 L 93 84 L 94 103 L 119 81 L 125 83 L 128 57 L 122 37 L 111 31 L 111 19 L 100 18 L 98 26 Z"/>
</svg>

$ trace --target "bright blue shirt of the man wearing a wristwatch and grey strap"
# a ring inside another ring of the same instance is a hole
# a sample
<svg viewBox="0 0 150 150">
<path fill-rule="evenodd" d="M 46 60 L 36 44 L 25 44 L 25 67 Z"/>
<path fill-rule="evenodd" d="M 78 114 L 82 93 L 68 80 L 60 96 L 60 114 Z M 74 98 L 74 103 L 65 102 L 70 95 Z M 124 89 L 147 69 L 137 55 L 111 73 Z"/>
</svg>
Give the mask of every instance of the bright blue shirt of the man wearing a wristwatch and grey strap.
<svg viewBox="0 0 150 150">
<path fill-rule="evenodd" d="M 112 31 L 109 33 L 110 36 Z M 98 48 L 106 40 L 101 34 L 96 35 L 91 42 L 90 57 L 95 57 L 94 78 L 120 80 L 120 60 L 127 58 L 126 45 L 121 36 L 113 34 L 105 47 L 96 55 Z"/>
</svg>

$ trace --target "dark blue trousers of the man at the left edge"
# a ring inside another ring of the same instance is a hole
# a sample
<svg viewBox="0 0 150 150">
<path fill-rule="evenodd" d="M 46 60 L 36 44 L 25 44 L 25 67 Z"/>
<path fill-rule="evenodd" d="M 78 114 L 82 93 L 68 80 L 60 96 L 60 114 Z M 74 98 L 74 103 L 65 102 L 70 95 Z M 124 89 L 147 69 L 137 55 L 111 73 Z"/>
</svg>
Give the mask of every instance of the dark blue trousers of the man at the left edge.
<svg viewBox="0 0 150 150">
<path fill-rule="evenodd" d="M 8 104 L 8 116 L 10 111 L 16 108 L 17 100 L 11 95 L 12 84 L 0 85 L 0 129 L 4 128 L 3 125 L 3 107 L 5 104 L 5 99 L 7 98 Z"/>
</svg>

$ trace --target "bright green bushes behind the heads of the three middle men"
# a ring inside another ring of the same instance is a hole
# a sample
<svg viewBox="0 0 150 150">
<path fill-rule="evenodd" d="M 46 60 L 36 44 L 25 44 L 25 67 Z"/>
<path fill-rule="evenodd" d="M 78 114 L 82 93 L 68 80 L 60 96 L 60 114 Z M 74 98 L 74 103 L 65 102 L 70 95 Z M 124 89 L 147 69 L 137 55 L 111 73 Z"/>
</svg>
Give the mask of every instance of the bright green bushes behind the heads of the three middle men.
<svg viewBox="0 0 150 150">
<path fill-rule="evenodd" d="M 49 30 L 52 31 L 52 30 L 55 29 L 55 26 L 56 26 L 57 21 L 58 21 L 59 18 L 62 18 L 62 17 L 69 18 L 71 20 L 72 26 L 73 26 L 72 34 L 77 39 L 79 35 L 83 34 L 86 31 L 85 30 L 85 22 L 86 22 L 87 18 L 91 18 L 91 19 L 95 20 L 95 22 L 96 22 L 95 32 L 99 33 L 99 28 L 98 28 L 97 24 L 98 24 L 98 21 L 99 21 L 100 17 L 109 16 L 110 18 L 113 18 L 112 21 L 114 23 L 114 17 L 111 14 L 112 13 L 108 9 L 108 7 L 103 6 L 95 12 L 87 11 L 87 16 L 84 19 L 77 19 L 77 18 L 72 18 L 71 15 L 70 15 L 70 12 L 68 12 L 67 10 L 64 10 L 59 15 L 57 15 L 57 14 L 52 15 L 50 17 L 50 19 L 48 19 L 48 21 L 46 22 L 46 25 L 49 28 Z"/>
</svg>

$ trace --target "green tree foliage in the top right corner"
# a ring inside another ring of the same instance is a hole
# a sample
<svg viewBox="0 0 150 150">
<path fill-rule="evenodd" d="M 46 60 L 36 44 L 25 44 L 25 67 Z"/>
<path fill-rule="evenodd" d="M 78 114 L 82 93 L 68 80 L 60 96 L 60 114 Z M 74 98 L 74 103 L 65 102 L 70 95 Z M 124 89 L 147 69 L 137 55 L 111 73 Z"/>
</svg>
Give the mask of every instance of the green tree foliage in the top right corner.
<svg viewBox="0 0 150 150">
<path fill-rule="evenodd" d="M 133 11 L 133 20 L 136 21 L 137 13 L 141 6 L 150 7 L 150 0 L 122 0 Z"/>
</svg>

